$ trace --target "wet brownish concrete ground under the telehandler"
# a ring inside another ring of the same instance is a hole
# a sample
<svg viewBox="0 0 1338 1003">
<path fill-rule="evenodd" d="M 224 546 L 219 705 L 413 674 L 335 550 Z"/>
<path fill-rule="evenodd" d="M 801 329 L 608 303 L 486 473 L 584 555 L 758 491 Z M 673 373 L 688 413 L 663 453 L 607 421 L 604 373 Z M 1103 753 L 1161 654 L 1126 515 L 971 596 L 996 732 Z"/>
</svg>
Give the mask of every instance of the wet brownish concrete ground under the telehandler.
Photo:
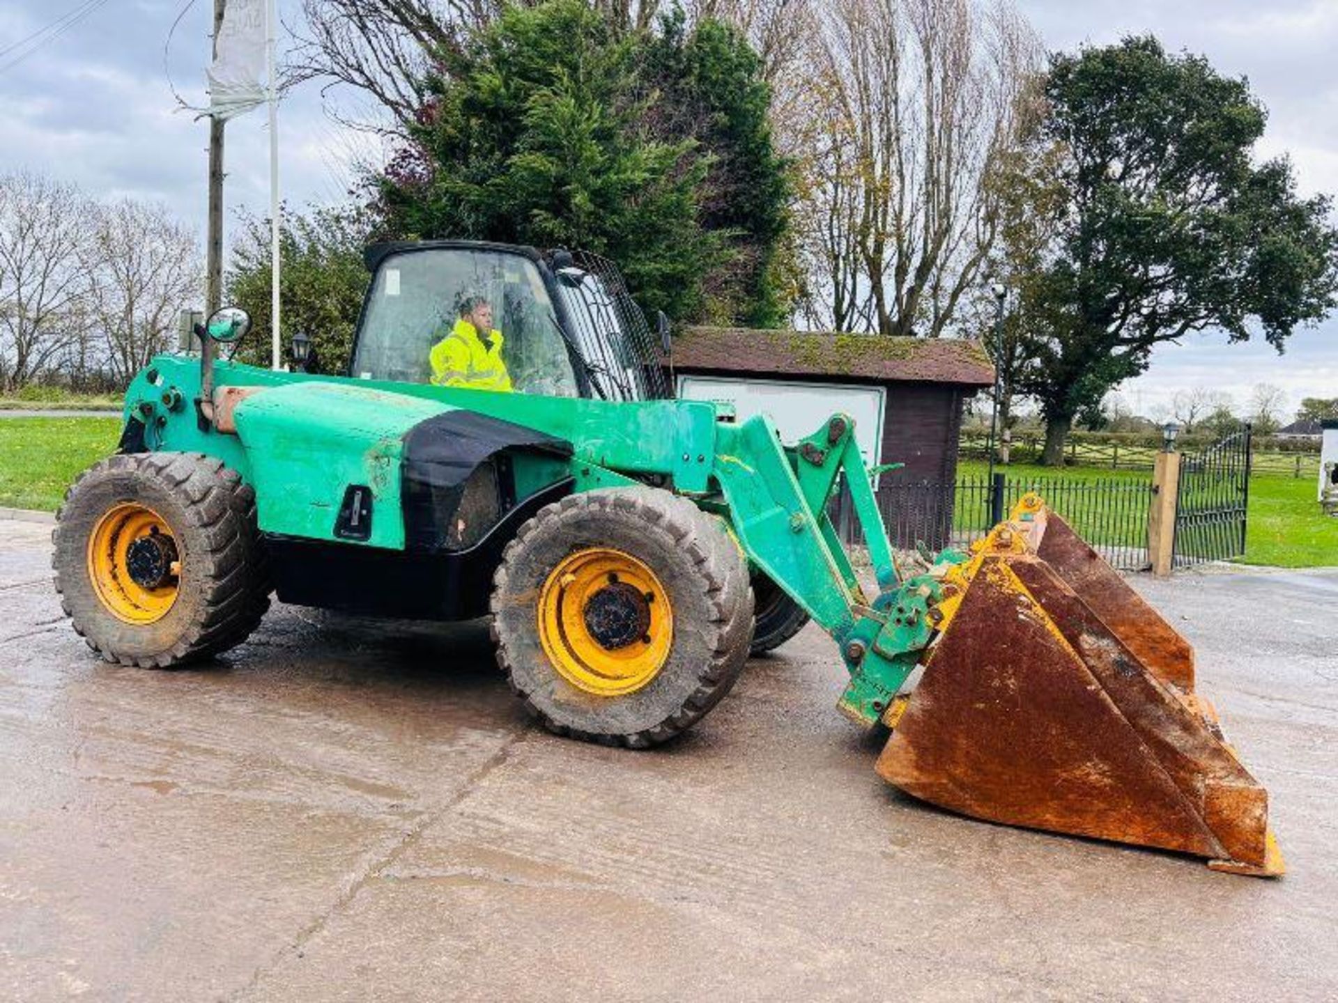
<svg viewBox="0 0 1338 1003">
<path fill-rule="evenodd" d="M 526 722 L 478 626 L 276 608 L 98 662 L 0 523 L 0 998 L 1334 999 L 1338 572 L 1137 587 L 1268 786 L 1290 873 L 886 786 L 809 629 L 650 753 Z"/>
</svg>

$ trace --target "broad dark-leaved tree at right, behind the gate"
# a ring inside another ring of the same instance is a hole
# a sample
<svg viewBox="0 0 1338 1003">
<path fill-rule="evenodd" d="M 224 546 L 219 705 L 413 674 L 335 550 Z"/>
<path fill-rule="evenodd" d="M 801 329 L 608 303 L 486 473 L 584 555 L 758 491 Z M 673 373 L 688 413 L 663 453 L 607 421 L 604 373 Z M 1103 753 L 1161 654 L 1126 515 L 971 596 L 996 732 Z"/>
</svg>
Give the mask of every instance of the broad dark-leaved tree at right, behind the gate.
<svg viewBox="0 0 1338 1003">
<path fill-rule="evenodd" d="M 1218 329 L 1282 350 L 1338 288 L 1330 201 L 1287 160 L 1255 164 L 1264 110 L 1243 79 L 1153 37 L 1052 56 L 1042 140 L 1065 206 L 1028 278 L 1032 362 L 1018 380 L 1060 464 L 1073 419 L 1144 372 L 1152 348 Z"/>
</svg>

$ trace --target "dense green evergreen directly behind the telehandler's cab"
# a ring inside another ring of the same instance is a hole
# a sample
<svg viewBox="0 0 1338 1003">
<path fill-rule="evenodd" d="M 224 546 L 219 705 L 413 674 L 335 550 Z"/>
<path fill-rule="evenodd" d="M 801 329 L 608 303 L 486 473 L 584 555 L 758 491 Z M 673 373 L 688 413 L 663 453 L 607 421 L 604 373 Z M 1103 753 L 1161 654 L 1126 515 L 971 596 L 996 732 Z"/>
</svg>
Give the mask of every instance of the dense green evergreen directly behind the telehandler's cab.
<svg viewBox="0 0 1338 1003">
<path fill-rule="evenodd" d="M 379 182 L 388 233 L 579 246 L 617 261 L 648 309 L 777 314 L 784 164 L 760 64 L 729 29 L 652 37 L 579 0 L 514 7 L 442 52 L 427 91 Z"/>
</svg>

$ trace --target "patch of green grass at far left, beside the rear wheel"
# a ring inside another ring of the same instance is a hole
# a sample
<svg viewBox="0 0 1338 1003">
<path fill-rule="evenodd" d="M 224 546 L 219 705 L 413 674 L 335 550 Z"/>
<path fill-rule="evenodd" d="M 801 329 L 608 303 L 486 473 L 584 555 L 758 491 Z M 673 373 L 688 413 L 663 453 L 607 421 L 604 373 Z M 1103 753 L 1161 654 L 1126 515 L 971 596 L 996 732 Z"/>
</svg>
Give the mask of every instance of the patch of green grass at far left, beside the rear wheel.
<svg viewBox="0 0 1338 1003">
<path fill-rule="evenodd" d="M 120 419 L 0 419 L 0 506 L 54 512 L 75 475 L 119 437 Z"/>
</svg>

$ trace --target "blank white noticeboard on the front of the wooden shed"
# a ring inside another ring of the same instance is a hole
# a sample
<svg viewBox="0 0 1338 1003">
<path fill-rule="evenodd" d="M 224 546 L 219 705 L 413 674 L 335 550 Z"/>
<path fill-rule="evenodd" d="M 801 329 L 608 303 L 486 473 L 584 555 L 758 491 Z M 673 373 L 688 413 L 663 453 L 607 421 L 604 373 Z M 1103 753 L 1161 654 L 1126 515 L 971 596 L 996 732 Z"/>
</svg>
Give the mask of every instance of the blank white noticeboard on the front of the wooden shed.
<svg viewBox="0 0 1338 1003">
<path fill-rule="evenodd" d="M 812 435 L 840 411 L 855 419 L 855 444 L 864 463 L 870 467 L 882 463 L 883 416 L 887 411 L 882 386 L 680 376 L 678 396 L 684 400 L 729 401 L 740 421 L 769 415 L 787 445 Z"/>
</svg>

